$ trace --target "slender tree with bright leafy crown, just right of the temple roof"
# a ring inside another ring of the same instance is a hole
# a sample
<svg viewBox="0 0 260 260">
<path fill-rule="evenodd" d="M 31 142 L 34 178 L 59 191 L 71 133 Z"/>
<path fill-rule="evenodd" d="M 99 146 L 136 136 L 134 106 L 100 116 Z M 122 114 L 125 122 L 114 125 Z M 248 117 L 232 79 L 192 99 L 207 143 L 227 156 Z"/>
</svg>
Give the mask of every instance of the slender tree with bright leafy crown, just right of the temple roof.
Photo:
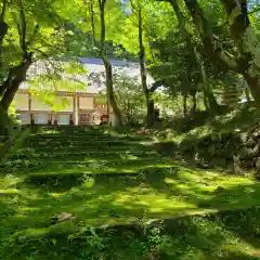
<svg viewBox="0 0 260 260">
<path fill-rule="evenodd" d="M 161 20 L 161 14 L 156 13 L 156 2 L 131 0 L 129 4 L 126 2 L 125 8 L 128 15 L 122 25 L 123 31 L 117 40 L 127 51 L 139 57 L 141 83 L 146 99 L 146 123 L 152 127 L 155 119 L 153 95 L 161 86 L 161 80 L 156 80 L 152 84 L 147 73 L 147 64 L 154 61 L 151 44 L 155 37 L 164 37 L 169 29 L 165 26 L 166 20 Z M 155 30 L 159 31 L 159 36 L 156 36 Z"/>
</svg>

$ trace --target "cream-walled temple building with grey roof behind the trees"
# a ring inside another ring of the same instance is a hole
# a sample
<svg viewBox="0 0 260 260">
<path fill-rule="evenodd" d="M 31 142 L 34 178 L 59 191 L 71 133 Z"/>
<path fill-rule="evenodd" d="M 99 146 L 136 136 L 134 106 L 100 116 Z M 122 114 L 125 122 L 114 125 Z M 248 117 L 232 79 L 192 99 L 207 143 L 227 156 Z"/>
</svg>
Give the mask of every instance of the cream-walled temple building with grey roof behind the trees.
<svg viewBox="0 0 260 260">
<path fill-rule="evenodd" d="M 104 72 L 104 65 L 100 58 L 79 58 L 83 67 L 90 73 Z M 139 76 L 139 64 L 126 61 L 110 61 L 113 68 L 125 69 L 129 76 Z M 104 82 L 92 80 L 88 82 L 88 75 L 77 78 L 86 87 L 80 90 L 60 90 L 56 92 L 55 103 L 66 100 L 66 106 L 53 110 L 51 105 L 46 104 L 37 95 L 29 91 L 29 84 L 23 82 L 14 98 L 14 105 L 20 120 L 23 125 L 99 125 L 100 116 L 107 114 L 107 102 L 101 99 L 105 90 Z M 113 110 L 109 107 L 109 118 L 113 118 Z"/>
</svg>

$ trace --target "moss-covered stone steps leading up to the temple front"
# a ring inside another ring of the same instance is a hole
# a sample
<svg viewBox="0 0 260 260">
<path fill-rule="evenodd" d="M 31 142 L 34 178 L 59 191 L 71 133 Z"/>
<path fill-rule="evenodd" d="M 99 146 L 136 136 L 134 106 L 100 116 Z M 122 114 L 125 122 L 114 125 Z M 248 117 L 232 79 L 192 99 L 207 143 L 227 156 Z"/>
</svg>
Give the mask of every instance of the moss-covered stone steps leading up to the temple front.
<svg viewBox="0 0 260 260">
<path fill-rule="evenodd" d="M 21 164 L 21 171 L 35 176 L 138 173 L 160 164 L 148 142 L 142 135 L 112 135 L 105 128 L 42 127 L 12 159 L 27 160 L 29 167 Z"/>
</svg>

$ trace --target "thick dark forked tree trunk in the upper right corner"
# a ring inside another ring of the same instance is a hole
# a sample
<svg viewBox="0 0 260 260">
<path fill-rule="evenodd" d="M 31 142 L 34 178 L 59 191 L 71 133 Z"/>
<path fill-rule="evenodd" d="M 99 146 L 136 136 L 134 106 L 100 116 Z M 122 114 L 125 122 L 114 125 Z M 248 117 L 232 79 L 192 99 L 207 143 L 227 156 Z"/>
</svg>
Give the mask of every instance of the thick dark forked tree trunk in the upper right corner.
<svg viewBox="0 0 260 260">
<path fill-rule="evenodd" d="M 197 0 L 184 0 L 197 31 L 200 35 L 205 50 L 208 54 L 222 65 L 224 70 L 232 70 L 242 74 L 248 84 L 256 104 L 260 106 L 260 73 L 253 65 L 253 53 L 248 48 L 247 29 L 250 28 L 250 21 L 247 13 L 247 1 L 221 0 L 225 8 L 227 18 L 231 22 L 230 35 L 237 49 L 238 54 L 230 55 L 212 35 L 210 23 L 206 20 L 203 9 Z M 236 15 L 234 15 L 236 14 Z M 253 30 L 252 30 L 253 34 Z"/>
</svg>

